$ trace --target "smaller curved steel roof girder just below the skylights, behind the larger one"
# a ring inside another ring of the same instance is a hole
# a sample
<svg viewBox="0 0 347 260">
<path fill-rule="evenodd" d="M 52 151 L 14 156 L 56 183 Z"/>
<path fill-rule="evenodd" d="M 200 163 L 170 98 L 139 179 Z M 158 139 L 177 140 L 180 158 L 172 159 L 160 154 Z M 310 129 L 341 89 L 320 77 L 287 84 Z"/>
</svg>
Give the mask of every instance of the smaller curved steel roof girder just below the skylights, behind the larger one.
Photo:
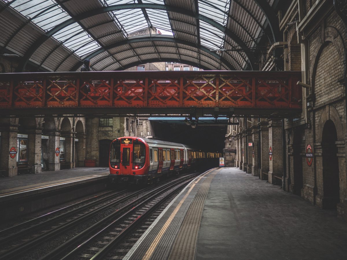
<svg viewBox="0 0 347 260">
<path fill-rule="evenodd" d="M 216 59 L 220 60 L 221 62 L 223 62 L 225 64 L 225 66 L 227 68 L 230 68 L 231 70 L 235 70 L 234 66 L 232 66 L 232 64 L 230 64 L 226 59 L 222 58 L 220 55 L 218 55 L 217 53 L 211 53 L 209 52 L 209 49 L 207 49 L 204 46 L 197 46 L 195 43 L 193 42 L 188 42 L 188 41 L 184 41 L 184 40 L 180 40 L 180 39 L 176 39 L 173 36 L 155 36 L 155 37 L 138 37 L 138 38 L 132 38 L 129 40 L 125 40 L 125 41 L 121 41 L 121 42 L 117 42 L 108 46 L 105 46 L 105 48 L 103 49 L 99 49 L 96 50 L 94 52 L 92 52 L 91 54 L 89 54 L 88 56 L 85 57 L 85 59 L 91 59 L 94 56 L 104 52 L 104 51 L 108 51 L 109 49 L 115 48 L 115 47 L 119 47 L 122 45 L 126 45 L 126 44 L 132 44 L 132 43 L 136 43 L 136 42 L 151 42 L 151 41 L 162 41 L 162 42 L 173 42 L 173 43 L 178 43 L 178 44 L 183 44 L 183 45 L 187 45 L 187 46 L 191 46 L 194 48 L 197 48 L 203 52 L 209 53 L 210 55 L 212 55 L 213 57 L 215 57 Z M 78 62 L 72 69 L 71 71 L 76 71 L 81 65 L 82 65 L 82 61 Z M 140 63 L 141 64 L 141 63 Z M 128 66 L 126 66 L 128 67 Z M 130 68 L 130 67 L 128 67 Z"/>
</svg>

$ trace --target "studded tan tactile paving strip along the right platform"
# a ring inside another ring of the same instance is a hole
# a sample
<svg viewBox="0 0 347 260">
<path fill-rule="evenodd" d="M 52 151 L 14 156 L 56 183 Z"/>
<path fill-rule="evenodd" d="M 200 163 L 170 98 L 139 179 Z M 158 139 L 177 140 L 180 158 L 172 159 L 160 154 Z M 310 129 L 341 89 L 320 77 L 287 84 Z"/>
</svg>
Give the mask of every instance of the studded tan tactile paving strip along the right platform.
<svg viewBox="0 0 347 260">
<path fill-rule="evenodd" d="M 210 183 L 218 171 L 210 174 L 202 183 L 200 189 L 188 209 L 182 226 L 176 237 L 174 246 L 172 247 L 169 260 L 194 260 L 196 240 L 199 232 L 202 211 L 205 205 L 205 200 L 210 188 Z"/>
</svg>

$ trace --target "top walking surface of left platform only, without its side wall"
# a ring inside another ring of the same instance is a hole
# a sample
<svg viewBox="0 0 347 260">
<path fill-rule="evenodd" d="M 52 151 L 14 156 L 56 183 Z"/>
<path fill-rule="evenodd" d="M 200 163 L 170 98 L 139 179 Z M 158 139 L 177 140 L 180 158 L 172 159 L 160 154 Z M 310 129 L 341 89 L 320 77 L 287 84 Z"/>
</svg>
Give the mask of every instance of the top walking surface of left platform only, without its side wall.
<svg viewBox="0 0 347 260">
<path fill-rule="evenodd" d="M 32 190 L 96 175 L 108 175 L 109 173 L 109 168 L 105 167 L 77 167 L 73 169 L 44 171 L 38 174 L 24 174 L 0 178 L 0 196 L 10 192 Z"/>
</svg>

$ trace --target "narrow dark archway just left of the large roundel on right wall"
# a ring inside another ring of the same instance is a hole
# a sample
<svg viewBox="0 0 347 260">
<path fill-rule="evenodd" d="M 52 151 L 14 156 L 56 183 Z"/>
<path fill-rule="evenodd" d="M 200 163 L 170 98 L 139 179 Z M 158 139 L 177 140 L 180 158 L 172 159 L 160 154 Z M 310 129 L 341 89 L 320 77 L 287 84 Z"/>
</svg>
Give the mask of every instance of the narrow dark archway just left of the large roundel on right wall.
<svg viewBox="0 0 347 260">
<path fill-rule="evenodd" d="M 301 189 L 303 188 L 303 157 L 300 155 L 301 151 L 301 135 L 299 131 L 294 132 L 293 140 L 293 171 L 294 171 L 294 186 L 293 193 L 301 196 Z"/>
</svg>

